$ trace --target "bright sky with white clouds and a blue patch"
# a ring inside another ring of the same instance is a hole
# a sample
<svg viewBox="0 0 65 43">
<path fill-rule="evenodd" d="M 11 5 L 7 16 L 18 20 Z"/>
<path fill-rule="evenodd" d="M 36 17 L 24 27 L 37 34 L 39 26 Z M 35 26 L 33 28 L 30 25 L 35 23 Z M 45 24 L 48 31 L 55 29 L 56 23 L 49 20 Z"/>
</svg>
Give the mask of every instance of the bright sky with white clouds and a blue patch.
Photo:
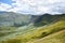
<svg viewBox="0 0 65 43">
<path fill-rule="evenodd" d="M 0 0 L 0 11 L 43 14 L 65 13 L 65 0 Z"/>
</svg>

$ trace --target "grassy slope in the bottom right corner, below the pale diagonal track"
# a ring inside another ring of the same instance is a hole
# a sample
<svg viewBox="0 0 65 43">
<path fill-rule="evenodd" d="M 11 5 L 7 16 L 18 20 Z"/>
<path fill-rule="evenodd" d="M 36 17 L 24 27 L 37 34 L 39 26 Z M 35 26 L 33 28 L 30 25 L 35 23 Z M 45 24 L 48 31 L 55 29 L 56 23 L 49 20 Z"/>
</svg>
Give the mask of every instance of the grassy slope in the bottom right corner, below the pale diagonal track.
<svg viewBox="0 0 65 43">
<path fill-rule="evenodd" d="M 65 43 L 65 30 L 55 32 L 40 40 L 28 43 Z"/>
</svg>

